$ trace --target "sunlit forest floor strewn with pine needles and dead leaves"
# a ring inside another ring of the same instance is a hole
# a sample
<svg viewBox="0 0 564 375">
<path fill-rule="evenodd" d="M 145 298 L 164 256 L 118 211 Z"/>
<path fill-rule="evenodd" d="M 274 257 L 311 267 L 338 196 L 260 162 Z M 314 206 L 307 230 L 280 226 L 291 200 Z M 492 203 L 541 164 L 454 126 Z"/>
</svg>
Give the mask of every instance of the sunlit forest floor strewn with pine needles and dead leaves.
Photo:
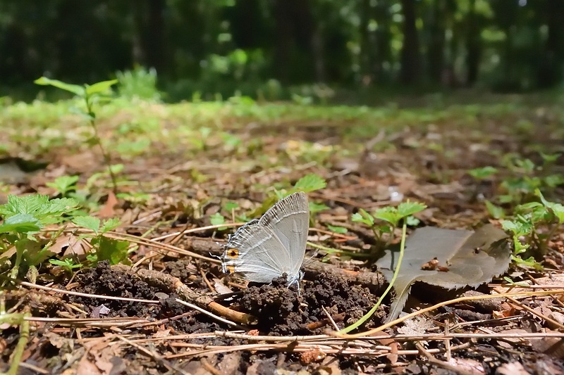
<svg viewBox="0 0 564 375">
<path fill-rule="evenodd" d="M 113 186 L 92 127 L 73 114 L 80 102 L 5 103 L 0 215 L 8 195 L 78 205 L 28 234 L 49 253 L 32 259 L 26 248 L 17 282 L 17 241 L 0 234 L 0 370 L 18 360 L 19 374 L 562 374 L 564 229 L 559 207 L 535 193 L 562 201 L 561 103 L 412 104 L 116 99 L 96 119 Z M 283 279 L 247 286 L 224 275 L 216 257 L 228 234 L 300 179 L 311 203 L 305 259 L 316 259 L 301 293 Z M 427 206 L 418 228 L 528 223 L 515 238 L 533 258 L 477 291 L 417 283 L 412 317 L 382 326 L 388 294 L 350 332 L 360 334 L 338 336 L 386 288 L 375 249 L 402 236 L 353 215 L 407 200 Z M 486 299 L 502 293 L 513 296 Z"/>
</svg>

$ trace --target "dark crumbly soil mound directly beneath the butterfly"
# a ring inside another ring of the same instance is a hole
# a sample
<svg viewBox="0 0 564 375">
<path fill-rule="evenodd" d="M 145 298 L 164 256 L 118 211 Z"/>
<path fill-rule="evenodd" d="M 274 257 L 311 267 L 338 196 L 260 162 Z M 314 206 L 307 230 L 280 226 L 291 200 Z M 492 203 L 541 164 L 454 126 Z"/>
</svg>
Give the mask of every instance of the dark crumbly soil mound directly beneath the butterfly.
<svg viewBox="0 0 564 375">
<path fill-rule="evenodd" d="M 376 296 L 368 288 L 350 285 L 333 274 L 319 274 L 317 279 L 303 283 L 301 294 L 295 286 L 288 288 L 286 277 L 274 279 L 272 284 L 250 286 L 238 301 L 238 310 L 255 315 L 257 329 L 273 336 L 323 333 L 326 324 L 325 308 L 331 317 L 341 315 L 338 326 L 355 322 L 376 303 Z M 376 314 L 379 321 L 384 314 Z M 369 324 L 369 323 L 368 323 Z"/>
</svg>

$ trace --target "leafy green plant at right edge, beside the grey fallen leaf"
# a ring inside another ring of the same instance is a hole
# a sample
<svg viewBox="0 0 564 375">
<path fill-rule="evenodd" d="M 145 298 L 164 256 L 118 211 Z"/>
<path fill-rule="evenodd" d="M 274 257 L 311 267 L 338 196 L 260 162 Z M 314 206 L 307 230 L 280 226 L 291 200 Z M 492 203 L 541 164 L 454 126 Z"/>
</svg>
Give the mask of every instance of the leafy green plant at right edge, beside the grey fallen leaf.
<svg viewBox="0 0 564 375">
<path fill-rule="evenodd" d="M 539 189 L 534 193 L 539 202 L 518 205 L 514 215 L 503 220 L 501 225 L 513 239 L 511 259 L 517 265 L 541 269 L 537 258 L 547 253 L 548 241 L 564 223 L 564 206 L 546 201 Z M 527 255 L 529 257 L 524 259 Z"/>
</svg>

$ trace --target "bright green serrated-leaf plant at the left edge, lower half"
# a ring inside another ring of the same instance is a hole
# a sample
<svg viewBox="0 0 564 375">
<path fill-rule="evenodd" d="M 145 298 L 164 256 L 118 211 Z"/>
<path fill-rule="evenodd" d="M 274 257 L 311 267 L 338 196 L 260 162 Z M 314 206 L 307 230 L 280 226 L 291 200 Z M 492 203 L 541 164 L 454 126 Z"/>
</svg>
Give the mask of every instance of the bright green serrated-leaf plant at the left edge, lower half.
<svg viewBox="0 0 564 375">
<path fill-rule="evenodd" d="M 4 255 L 16 248 L 16 261 L 10 277 L 16 279 L 22 265 L 35 267 L 50 255 L 52 241 L 39 239 L 39 230 L 47 224 L 66 220 L 64 215 L 75 210 L 78 202 L 72 198 L 49 200 L 48 196 L 8 196 L 8 203 L 0 205 L 4 222 L 0 225 L 0 251 Z"/>
</svg>

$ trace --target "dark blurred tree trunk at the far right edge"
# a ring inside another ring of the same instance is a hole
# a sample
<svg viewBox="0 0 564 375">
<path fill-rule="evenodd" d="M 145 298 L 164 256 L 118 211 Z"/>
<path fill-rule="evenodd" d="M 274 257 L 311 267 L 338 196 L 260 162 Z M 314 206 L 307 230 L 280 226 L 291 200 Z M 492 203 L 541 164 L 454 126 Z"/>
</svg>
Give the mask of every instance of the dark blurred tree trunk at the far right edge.
<svg viewBox="0 0 564 375">
<path fill-rule="evenodd" d="M 564 65 L 564 1 L 546 1 L 545 4 L 548 35 L 544 56 L 541 56 L 537 65 L 537 84 L 543 89 L 553 87 L 562 80 Z"/>
</svg>

